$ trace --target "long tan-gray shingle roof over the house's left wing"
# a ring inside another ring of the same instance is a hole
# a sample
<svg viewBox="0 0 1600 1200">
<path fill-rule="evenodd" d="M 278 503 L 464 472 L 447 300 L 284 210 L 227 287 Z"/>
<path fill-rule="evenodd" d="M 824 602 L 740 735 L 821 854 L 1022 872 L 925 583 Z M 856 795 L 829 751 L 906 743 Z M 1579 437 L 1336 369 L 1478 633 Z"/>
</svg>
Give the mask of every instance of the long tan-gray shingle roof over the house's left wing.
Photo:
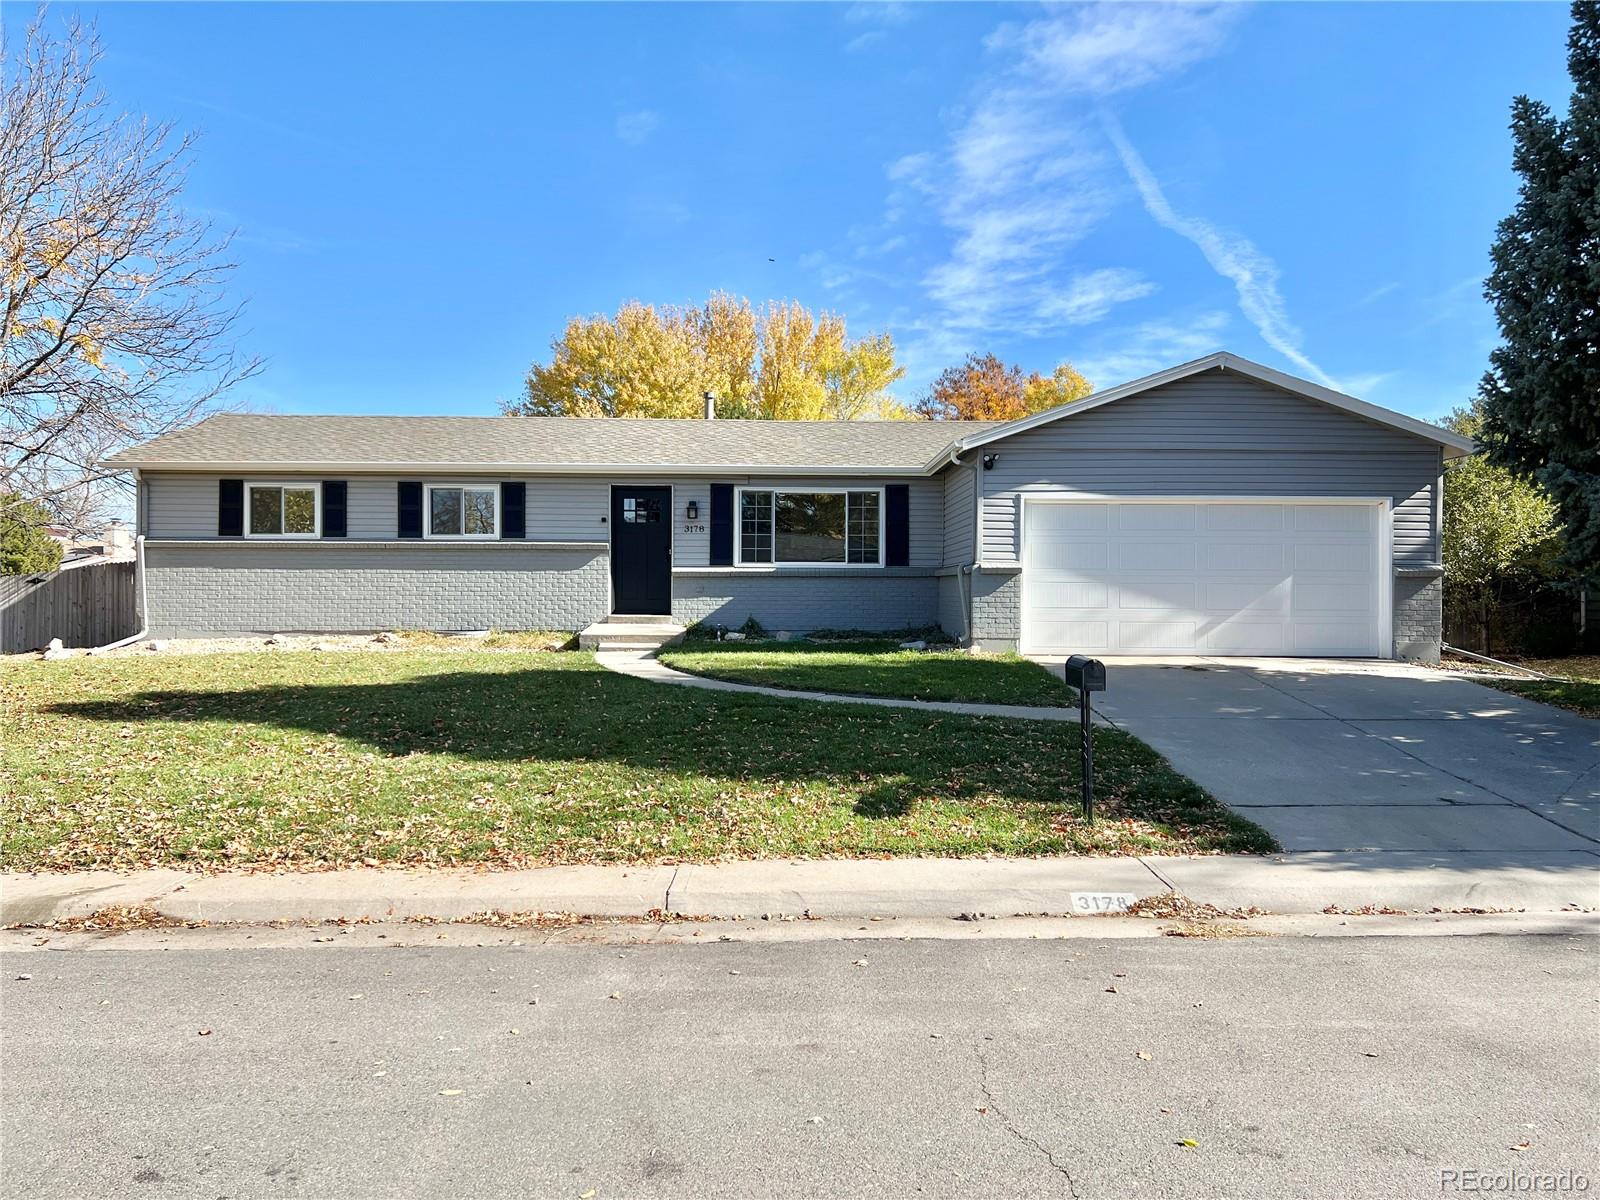
<svg viewBox="0 0 1600 1200">
<path fill-rule="evenodd" d="M 107 459 L 122 467 L 707 467 L 920 470 L 997 421 L 664 421 L 219 413 Z"/>
</svg>

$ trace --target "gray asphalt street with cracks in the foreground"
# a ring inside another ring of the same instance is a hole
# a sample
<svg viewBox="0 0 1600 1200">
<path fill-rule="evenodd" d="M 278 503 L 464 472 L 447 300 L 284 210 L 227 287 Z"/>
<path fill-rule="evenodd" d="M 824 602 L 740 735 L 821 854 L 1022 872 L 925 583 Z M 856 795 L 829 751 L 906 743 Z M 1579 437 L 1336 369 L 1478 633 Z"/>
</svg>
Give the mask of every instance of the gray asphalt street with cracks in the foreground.
<svg viewBox="0 0 1600 1200">
<path fill-rule="evenodd" d="M 1600 1189 L 1592 926 L 314 936 L 0 955 L 3 1195 L 1467 1194 L 1448 1171 Z"/>
</svg>

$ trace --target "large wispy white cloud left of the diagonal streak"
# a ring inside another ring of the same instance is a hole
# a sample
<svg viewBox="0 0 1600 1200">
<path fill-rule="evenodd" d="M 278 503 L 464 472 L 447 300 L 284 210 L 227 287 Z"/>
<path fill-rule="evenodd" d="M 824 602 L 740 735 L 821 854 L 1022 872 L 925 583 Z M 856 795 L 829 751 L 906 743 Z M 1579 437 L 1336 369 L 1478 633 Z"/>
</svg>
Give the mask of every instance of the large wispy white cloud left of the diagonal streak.
<svg viewBox="0 0 1600 1200">
<path fill-rule="evenodd" d="M 968 342 L 1043 336 L 1109 317 L 1155 285 L 1125 266 L 1086 269 L 1074 248 L 1112 211 L 1117 160 L 1078 101 L 1141 86 L 1214 53 L 1237 11 L 1218 5 L 1086 5 L 1010 22 L 939 150 L 888 168 L 880 245 L 918 219 L 944 240 L 922 274 L 922 322 Z M 867 14 L 850 18 L 869 19 Z"/>
</svg>

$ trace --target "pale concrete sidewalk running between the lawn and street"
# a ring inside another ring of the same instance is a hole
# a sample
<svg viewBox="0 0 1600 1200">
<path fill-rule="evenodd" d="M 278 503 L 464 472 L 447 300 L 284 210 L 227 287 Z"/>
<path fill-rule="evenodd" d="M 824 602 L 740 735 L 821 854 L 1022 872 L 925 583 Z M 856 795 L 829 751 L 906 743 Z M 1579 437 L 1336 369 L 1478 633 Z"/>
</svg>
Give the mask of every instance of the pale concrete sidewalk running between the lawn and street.
<svg viewBox="0 0 1600 1200">
<path fill-rule="evenodd" d="M 1342 853 L 1214 858 L 742 861 L 536 870 L 355 869 L 197 875 L 179 870 L 0 875 L 0 925 L 150 904 L 182 920 L 450 920 L 488 909 L 659 918 L 1072 915 L 1075 893 L 1157 896 L 1277 914 L 1328 909 L 1600 907 L 1589 851 Z"/>
</svg>

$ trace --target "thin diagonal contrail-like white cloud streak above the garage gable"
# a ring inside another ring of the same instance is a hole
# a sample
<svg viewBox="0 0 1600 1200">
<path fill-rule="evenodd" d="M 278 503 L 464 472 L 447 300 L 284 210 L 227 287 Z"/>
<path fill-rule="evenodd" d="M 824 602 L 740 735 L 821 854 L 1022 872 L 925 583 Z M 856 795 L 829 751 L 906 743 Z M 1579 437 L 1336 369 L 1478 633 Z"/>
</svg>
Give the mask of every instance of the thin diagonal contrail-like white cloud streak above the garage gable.
<svg viewBox="0 0 1600 1200">
<path fill-rule="evenodd" d="M 1155 174 L 1128 141 L 1122 125 L 1104 114 L 1106 133 L 1110 136 L 1123 166 L 1133 178 L 1146 211 L 1157 224 L 1173 230 L 1198 246 L 1211 269 L 1234 283 L 1238 309 L 1245 314 L 1261 339 L 1306 371 L 1312 379 L 1338 387 L 1333 378 L 1314 363 L 1301 349 L 1301 333 L 1290 322 L 1283 296 L 1278 293 L 1278 267 L 1256 245 L 1238 234 L 1218 229 L 1208 221 L 1182 216 L 1166 202 Z"/>
</svg>

